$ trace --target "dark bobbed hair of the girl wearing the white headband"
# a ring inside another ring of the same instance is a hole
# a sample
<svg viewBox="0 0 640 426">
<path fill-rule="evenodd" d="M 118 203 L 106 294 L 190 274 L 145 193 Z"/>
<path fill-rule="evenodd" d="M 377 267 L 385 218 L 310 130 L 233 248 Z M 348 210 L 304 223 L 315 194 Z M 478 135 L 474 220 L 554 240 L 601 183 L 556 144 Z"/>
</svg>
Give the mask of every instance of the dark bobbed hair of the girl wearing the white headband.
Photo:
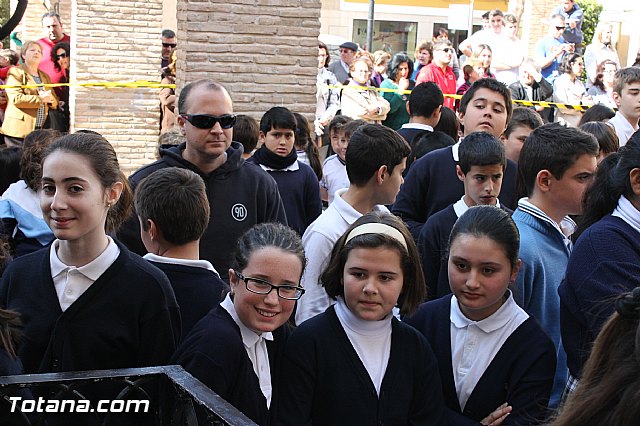
<svg viewBox="0 0 640 426">
<path fill-rule="evenodd" d="M 345 242 L 349 233 L 366 223 L 382 223 L 397 229 L 406 242 L 405 246 L 397 239 L 386 234 L 362 234 L 353 237 Z M 424 273 L 420 267 L 420 255 L 409 230 L 404 222 L 397 216 L 389 213 L 371 212 L 358 218 L 338 239 L 331 252 L 329 263 L 320 275 L 320 281 L 327 294 L 335 299 L 344 296 L 344 285 L 342 281 L 344 266 L 349 258 L 351 250 L 356 248 L 377 248 L 386 247 L 397 250 L 400 254 L 400 265 L 404 276 L 402 283 L 402 293 L 398 298 L 400 313 L 409 315 L 416 311 L 420 303 L 424 301 L 427 294 L 427 287 L 424 280 Z"/>
</svg>

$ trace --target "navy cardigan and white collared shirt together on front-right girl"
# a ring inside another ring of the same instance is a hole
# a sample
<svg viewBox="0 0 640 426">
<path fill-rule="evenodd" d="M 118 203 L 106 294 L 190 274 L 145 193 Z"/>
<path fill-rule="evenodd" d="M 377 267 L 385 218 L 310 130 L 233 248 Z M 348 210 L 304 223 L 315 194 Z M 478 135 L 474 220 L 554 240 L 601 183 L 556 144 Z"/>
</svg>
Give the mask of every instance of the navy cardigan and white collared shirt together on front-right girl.
<svg viewBox="0 0 640 426">
<path fill-rule="evenodd" d="M 549 337 L 517 307 L 511 295 L 496 313 L 478 322 L 466 319 L 459 308 L 456 310 L 457 303 L 453 295 L 426 302 L 415 315 L 405 319 L 434 349 L 449 424 L 478 424 L 505 402 L 513 411 L 504 425 L 530 425 L 544 420 L 556 364 L 555 347 Z M 475 357 L 486 355 L 482 353 L 486 351 L 474 351 L 474 346 L 482 343 L 479 339 L 491 339 L 485 342 L 491 346 L 505 327 L 513 331 L 501 336 L 503 343 L 493 348 L 493 358 L 482 364 L 486 367 L 470 369 L 464 376 L 464 368 Z M 452 335 L 460 337 L 454 333 L 465 331 L 466 338 L 462 335 L 462 340 L 457 340 L 464 342 L 462 347 L 453 345 Z M 452 354 L 460 364 L 456 365 Z M 475 385 L 463 382 L 470 380 L 470 375 L 477 380 Z M 463 404 L 458 393 L 464 396 Z"/>
</svg>

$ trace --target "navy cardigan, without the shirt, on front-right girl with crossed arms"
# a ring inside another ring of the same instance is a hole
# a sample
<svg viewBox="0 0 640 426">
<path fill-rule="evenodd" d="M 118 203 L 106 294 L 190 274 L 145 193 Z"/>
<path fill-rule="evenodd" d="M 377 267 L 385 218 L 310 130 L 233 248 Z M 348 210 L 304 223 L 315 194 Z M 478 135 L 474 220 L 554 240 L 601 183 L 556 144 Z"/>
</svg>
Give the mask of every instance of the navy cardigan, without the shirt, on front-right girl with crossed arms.
<svg viewBox="0 0 640 426">
<path fill-rule="evenodd" d="M 440 368 L 450 425 L 477 425 L 501 404 L 513 411 L 503 425 L 537 424 L 547 416 L 556 368 L 553 342 L 531 317 L 504 342 L 473 389 L 464 411 L 456 393 L 451 364 L 451 296 L 423 303 L 406 322 L 429 341 Z"/>
</svg>

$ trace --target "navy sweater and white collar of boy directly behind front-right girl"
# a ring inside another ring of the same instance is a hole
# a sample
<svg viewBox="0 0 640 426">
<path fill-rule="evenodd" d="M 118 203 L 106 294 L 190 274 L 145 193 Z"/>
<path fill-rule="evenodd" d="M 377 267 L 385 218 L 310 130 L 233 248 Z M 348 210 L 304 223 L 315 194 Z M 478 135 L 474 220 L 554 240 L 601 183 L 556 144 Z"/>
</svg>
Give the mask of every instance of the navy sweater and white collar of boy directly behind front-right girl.
<svg viewBox="0 0 640 426">
<path fill-rule="evenodd" d="M 449 287 L 449 257 L 447 248 L 453 225 L 469 206 L 463 201 L 464 195 L 456 203 L 440 210 L 427 219 L 418 237 L 418 251 L 422 260 L 422 271 L 427 282 L 429 300 L 451 293 Z M 509 214 L 511 210 L 496 201 L 496 207 Z"/>
</svg>

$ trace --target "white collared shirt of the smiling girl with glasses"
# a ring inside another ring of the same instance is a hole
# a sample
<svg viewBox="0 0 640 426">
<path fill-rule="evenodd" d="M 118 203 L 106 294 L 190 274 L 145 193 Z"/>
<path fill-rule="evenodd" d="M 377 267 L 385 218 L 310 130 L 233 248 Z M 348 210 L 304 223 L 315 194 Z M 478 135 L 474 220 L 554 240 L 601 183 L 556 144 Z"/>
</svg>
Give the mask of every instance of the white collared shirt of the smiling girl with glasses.
<svg viewBox="0 0 640 426">
<path fill-rule="evenodd" d="M 258 334 L 244 325 L 238 317 L 230 294 L 227 294 L 227 297 L 220 303 L 220 306 L 231 315 L 233 321 L 238 325 L 238 328 L 240 328 L 244 349 L 247 351 L 247 355 L 251 360 L 253 371 L 256 373 L 258 382 L 260 383 L 260 390 L 267 400 L 267 407 L 269 407 L 271 406 L 272 393 L 271 367 L 269 365 L 269 352 L 267 352 L 265 339 L 273 340 L 273 334 L 271 334 L 271 332 Z"/>
</svg>

